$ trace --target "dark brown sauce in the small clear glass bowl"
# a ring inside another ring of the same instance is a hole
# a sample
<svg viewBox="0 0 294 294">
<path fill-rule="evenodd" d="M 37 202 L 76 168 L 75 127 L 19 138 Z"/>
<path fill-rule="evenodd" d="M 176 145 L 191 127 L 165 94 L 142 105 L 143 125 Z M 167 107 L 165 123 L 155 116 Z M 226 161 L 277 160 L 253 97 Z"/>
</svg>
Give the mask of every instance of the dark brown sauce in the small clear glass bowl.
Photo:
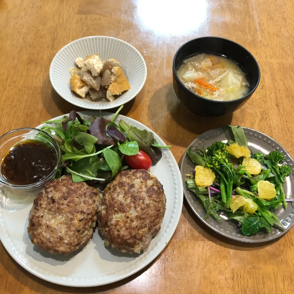
<svg viewBox="0 0 294 294">
<path fill-rule="evenodd" d="M 15 145 L 1 163 L 4 177 L 14 185 L 30 185 L 44 179 L 55 168 L 53 151 L 41 141 L 26 140 Z"/>
</svg>

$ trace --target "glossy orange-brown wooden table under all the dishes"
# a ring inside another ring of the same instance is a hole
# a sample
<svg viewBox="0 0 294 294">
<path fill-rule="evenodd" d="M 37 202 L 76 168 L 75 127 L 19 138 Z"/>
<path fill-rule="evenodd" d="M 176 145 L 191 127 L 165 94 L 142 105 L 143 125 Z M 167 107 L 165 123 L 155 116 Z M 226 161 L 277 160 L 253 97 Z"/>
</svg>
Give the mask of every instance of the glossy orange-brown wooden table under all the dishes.
<svg viewBox="0 0 294 294">
<path fill-rule="evenodd" d="M 173 145 L 178 162 L 197 135 L 228 123 L 264 132 L 294 155 L 293 11 L 292 0 L 0 0 L 0 134 L 77 110 L 52 89 L 51 60 L 72 40 L 105 35 L 132 44 L 147 64 L 145 86 L 122 114 Z M 199 36 L 234 40 L 259 63 L 259 87 L 233 115 L 202 118 L 175 96 L 173 56 Z M 293 243 L 294 229 L 262 246 L 224 239 L 184 201 L 171 242 L 134 276 L 103 287 L 61 287 L 27 273 L 0 245 L 0 293 L 285 294 L 294 287 Z"/>
</svg>

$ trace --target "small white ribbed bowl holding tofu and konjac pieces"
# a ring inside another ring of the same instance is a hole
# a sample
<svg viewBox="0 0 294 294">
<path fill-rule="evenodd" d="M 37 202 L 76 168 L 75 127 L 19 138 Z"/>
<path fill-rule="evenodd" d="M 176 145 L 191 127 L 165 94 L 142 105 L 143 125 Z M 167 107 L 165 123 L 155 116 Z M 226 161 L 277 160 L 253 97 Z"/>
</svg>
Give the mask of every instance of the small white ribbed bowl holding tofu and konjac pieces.
<svg viewBox="0 0 294 294">
<path fill-rule="evenodd" d="M 113 102 L 82 99 L 70 90 L 70 68 L 77 66 L 75 59 L 93 54 L 98 54 L 102 61 L 114 58 L 126 70 L 131 88 Z M 105 110 L 126 104 L 141 91 L 147 67 L 140 52 L 129 43 L 113 37 L 91 36 L 75 40 L 60 49 L 51 62 L 49 76 L 55 91 L 66 101 L 86 109 Z"/>
</svg>

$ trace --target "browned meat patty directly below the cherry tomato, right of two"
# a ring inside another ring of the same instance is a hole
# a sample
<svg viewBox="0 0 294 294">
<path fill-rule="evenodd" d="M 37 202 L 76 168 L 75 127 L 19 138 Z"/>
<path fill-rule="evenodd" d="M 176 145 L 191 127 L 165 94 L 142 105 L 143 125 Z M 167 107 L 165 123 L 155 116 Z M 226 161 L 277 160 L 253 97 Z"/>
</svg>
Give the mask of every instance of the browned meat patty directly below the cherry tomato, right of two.
<svg viewBox="0 0 294 294">
<path fill-rule="evenodd" d="M 121 171 L 98 202 L 98 228 L 104 243 L 140 253 L 160 230 L 165 213 L 161 183 L 143 169 Z"/>
</svg>

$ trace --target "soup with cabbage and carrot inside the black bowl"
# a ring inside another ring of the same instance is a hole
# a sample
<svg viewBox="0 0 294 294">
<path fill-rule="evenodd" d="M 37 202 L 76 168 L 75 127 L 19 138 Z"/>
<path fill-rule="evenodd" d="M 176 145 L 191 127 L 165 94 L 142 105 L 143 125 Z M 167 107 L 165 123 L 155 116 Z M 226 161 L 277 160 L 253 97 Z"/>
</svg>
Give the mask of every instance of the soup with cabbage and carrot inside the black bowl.
<svg viewBox="0 0 294 294">
<path fill-rule="evenodd" d="M 204 98 L 228 101 L 248 94 L 249 83 L 236 62 L 212 54 L 198 54 L 183 61 L 177 70 L 182 83 Z"/>
</svg>

